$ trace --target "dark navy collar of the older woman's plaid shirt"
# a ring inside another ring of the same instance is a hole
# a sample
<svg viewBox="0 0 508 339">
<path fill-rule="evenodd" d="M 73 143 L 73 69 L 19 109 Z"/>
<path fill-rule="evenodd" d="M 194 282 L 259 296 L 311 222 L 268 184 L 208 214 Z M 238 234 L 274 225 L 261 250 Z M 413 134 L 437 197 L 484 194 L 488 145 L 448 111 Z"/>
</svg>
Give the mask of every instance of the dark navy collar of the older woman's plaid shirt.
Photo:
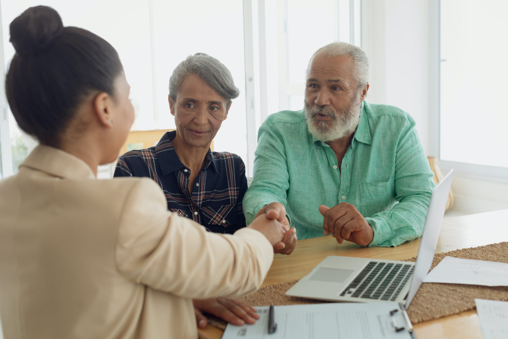
<svg viewBox="0 0 508 339">
<path fill-rule="evenodd" d="M 180 158 L 178 158 L 178 155 L 173 148 L 173 144 L 171 143 L 171 140 L 173 140 L 175 137 L 176 131 L 166 132 L 155 146 L 157 162 L 159 166 L 161 166 L 163 175 L 168 175 L 169 173 L 175 172 L 182 168 L 186 168 L 185 165 L 183 165 L 180 161 Z M 205 156 L 204 168 L 207 169 L 210 164 L 213 165 L 215 173 L 218 173 L 215 158 L 213 157 L 211 149 L 208 148 L 208 152 Z"/>
</svg>

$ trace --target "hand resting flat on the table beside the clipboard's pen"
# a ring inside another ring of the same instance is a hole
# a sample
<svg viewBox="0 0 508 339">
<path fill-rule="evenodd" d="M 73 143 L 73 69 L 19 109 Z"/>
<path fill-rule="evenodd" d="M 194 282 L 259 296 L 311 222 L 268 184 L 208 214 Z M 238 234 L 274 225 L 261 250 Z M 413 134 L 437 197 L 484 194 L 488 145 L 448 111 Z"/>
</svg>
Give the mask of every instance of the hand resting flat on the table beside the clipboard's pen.
<svg viewBox="0 0 508 339">
<path fill-rule="evenodd" d="M 196 322 L 199 328 L 208 323 L 202 312 L 226 320 L 233 325 L 253 324 L 259 315 L 249 305 L 229 298 L 193 299 Z"/>
</svg>

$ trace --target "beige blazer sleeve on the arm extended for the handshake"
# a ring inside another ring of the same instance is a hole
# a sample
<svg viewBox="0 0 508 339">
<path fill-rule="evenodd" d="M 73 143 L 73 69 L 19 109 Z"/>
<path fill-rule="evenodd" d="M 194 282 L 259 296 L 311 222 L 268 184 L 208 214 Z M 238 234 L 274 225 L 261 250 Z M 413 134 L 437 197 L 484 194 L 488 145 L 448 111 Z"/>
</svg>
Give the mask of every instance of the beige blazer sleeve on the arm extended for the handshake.
<svg viewBox="0 0 508 339">
<path fill-rule="evenodd" d="M 261 287 L 273 260 L 262 233 L 207 232 L 169 212 L 153 180 L 137 181 L 125 199 L 115 248 L 127 279 L 186 298 L 238 296 Z"/>
</svg>

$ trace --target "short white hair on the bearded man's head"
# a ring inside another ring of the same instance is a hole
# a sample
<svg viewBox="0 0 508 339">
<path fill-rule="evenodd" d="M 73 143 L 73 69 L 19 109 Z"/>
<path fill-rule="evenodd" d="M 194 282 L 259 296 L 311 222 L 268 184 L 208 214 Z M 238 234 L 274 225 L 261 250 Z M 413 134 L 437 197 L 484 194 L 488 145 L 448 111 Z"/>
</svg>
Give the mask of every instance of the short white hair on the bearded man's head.
<svg viewBox="0 0 508 339">
<path fill-rule="evenodd" d="M 355 65 L 353 77 L 355 78 L 358 88 L 365 87 L 367 82 L 369 82 L 369 59 L 360 47 L 348 44 L 347 42 L 335 41 L 315 51 L 310 60 L 319 52 L 323 52 L 323 55 L 329 58 L 341 55 L 351 57 Z"/>
</svg>

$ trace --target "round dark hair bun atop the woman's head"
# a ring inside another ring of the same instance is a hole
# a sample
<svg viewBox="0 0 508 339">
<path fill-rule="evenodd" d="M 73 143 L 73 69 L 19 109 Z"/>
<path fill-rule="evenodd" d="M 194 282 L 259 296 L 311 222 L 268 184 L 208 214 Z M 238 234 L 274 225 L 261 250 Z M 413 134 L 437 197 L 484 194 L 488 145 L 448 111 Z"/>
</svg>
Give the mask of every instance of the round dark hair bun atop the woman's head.
<svg viewBox="0 0 508 339">
<path fill-rule="evenodd" d="M 62 32 L 63 23 L 58 12 L 51 7 L 30 7 L 9 26 L 9 40 L 21 55 L 36 53 L 49 47 Z"/>
</svg>

